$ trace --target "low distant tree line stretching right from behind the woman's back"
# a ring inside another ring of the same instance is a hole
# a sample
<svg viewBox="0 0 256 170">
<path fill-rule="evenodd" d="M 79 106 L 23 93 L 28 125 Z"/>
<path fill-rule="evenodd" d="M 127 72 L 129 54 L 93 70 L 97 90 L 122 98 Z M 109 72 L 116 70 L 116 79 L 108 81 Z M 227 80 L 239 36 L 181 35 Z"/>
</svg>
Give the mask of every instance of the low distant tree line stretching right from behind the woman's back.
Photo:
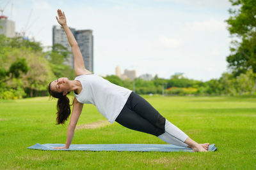
<svg viewBox="0 0 256 170">
<path fill-rule="evenodd" d="M 223 73 L 219 79 L 198 81 L 188 78 L 179 78 L 173 75 L 170 79 L 158 78 L 146 81 L 136 78 L 134 81 L 121 80 L 118 76 L 106 76 L 106 79 L 134 90 L 138 94 L 163 95 L 193 95 L 193 96 L 252 96 L 256 95 L 256 74 L 252 69 L 234 76 L 232 73 Z M 135 85 L 135 88 L 134 88 Z"/>
</svg>

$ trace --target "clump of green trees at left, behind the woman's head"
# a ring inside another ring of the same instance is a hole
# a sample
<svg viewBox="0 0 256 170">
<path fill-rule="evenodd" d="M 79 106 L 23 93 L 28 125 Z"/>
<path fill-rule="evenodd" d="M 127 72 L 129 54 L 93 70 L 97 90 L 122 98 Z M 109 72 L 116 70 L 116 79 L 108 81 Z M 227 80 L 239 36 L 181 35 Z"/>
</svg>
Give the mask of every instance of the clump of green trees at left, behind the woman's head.
<svg viewBox="0 0 256 170">
<path fill-rule="evenodd" d="M 74 69 L 67 61 L 67 48 L 54 45 L 51 52 L 42 52 L 40 43 L 23 38 L 0 35 L 0 98 L 14 99 L 44 95 L 49 82 L 57 77 L 74 78 Z M 7 95 L 8 94 L 8 95 Z"/>
</svg>

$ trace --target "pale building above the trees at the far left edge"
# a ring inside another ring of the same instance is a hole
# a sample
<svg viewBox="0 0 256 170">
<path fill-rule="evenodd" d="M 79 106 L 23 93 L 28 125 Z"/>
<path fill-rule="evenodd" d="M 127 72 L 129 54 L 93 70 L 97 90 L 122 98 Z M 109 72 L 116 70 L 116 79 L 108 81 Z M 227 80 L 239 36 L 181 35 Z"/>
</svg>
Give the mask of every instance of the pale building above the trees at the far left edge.
<svg viewBox="0 0 256 170">
<path fill-rule="evenodd" d="M 6 37 L 15 37 L 15 22 L 8 20 L 8 17 L 0 16 L 0 34 L 4 34 Z"/>
</svg>

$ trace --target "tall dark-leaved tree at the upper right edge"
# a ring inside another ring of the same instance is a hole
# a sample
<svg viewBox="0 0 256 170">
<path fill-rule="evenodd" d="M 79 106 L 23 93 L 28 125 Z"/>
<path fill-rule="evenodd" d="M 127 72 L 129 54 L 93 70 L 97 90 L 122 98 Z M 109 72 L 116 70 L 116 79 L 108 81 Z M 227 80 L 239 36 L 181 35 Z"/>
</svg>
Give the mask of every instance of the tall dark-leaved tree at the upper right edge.
<svg viewBox="0 0 256 170">
<path fill-rule="evenodd" d="M 230 0 L 230 3 L 235 9 L 229 10 L 228 31 L 237 39 L 232 41 L 230 47 L 228 67 L 234 76 L 246 73 L 249 69 L 256 73 L 256 1 Z"/>
</svg>

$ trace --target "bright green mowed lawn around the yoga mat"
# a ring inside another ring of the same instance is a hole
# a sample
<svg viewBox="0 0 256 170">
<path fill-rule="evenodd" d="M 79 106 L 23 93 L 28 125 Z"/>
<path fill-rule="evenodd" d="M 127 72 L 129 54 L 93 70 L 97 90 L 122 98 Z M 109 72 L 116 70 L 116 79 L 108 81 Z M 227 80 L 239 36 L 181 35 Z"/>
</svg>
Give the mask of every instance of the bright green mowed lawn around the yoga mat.
<svg viewBox="0 0 256 170">
<path fill-rule="evenodd" d="M 0 101 L 0 169 L 256 169 L 255 97 L 143 96 L 170 122 L 217 152 L 84 152 L 29 150 L 36 143 L 65 143 L 67 124 L 55 125 L 56 100 Z M 72 97 L 71 97 L 72 98 Z M 106 120 L 84 104 L 77 125 Z M 164 144 L 121 125 L 76 129 L 72 144 Z"/>
</svg>

